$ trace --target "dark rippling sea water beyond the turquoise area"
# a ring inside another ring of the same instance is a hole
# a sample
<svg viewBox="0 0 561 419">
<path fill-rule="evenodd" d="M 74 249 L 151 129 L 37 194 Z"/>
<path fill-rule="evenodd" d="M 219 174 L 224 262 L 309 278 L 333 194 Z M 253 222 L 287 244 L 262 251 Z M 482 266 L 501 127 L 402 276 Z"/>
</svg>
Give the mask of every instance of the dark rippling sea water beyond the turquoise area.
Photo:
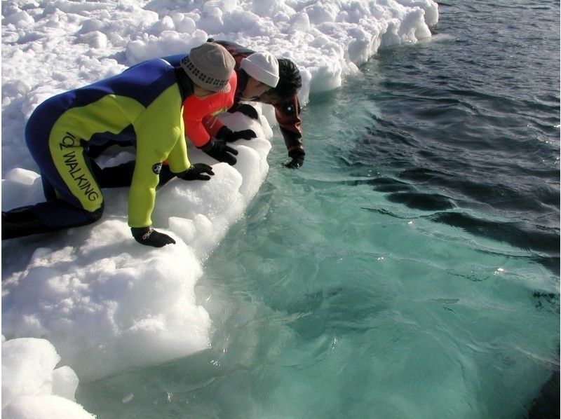
<svg viewBox="0 0 561 419">
<path fill-rule="evenodd" d="M 559 4 L 440 2 L 440 13 L 431 43 L 366 66 L 379 114 L 346 163 L 384 165 L 393 178 L 372 186 L 389 200 L 532 250 L 558 274 Z"/>
</svg>

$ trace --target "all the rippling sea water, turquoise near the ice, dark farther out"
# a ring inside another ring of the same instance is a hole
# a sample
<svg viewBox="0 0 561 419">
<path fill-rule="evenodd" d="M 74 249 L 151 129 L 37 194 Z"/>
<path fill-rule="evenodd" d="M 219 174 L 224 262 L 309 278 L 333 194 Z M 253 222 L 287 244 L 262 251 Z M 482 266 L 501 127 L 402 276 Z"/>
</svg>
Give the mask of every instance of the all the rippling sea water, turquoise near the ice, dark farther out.
<svg viewBox="0 0 561 419">
<path fill-rule="evenodd" d="M 212 349 L 78 401 L 99 418 L 527 416 L 559 369 L 560 144 L 559 5 L 525 3 L 440 3 L 431 41 L 312 97 L 306 165 L 279 167 L 273 139 L 208 260 Z"/>
</svg>

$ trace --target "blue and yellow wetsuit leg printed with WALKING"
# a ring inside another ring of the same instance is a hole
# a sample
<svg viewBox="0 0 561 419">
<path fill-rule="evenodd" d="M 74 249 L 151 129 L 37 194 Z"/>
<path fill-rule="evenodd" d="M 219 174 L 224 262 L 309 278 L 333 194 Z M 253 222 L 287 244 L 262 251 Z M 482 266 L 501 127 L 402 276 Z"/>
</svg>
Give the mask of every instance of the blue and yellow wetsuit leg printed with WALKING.
<svg viewBox="0 0 561 419">
<path fill-rule="evenodd" d="M 103 213 L 103 195 L 85 142 L 74 133 L 74 121 L 59 113 L 49 100 L 43 102 L 25 127 L 27 147 L 41 169 L 48 200 L 2 212 L 2 239 L 83 226 Z"/>
</svg>

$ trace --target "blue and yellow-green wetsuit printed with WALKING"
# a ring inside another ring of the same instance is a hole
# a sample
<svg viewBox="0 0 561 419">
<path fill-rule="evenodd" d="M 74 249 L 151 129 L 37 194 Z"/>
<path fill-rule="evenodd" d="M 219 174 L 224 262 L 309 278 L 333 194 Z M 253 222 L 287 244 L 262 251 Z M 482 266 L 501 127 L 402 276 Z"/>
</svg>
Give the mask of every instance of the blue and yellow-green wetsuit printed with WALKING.
<svg viewBox="0 0 561 419">
<path fill-rule="evenodd" d="M 88 145 L 133 142 L 137 155 L 128 224 L 150 226 L 163 161 L 175 173 L 190 167 L 183 100 L 174 67 L 156 59 L 40 104 L 29 118 L 25 139 L 41 170 L 48 201 L 29 209 L 47 226 L 97 221 L 103 196 L 86 157 Z"/>
</svg>

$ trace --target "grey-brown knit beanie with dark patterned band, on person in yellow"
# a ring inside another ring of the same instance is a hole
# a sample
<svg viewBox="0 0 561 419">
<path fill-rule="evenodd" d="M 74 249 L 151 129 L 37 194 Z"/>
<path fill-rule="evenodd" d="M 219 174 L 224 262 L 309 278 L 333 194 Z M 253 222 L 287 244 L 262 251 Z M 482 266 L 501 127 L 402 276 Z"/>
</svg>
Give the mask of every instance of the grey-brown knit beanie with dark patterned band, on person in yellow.
<svg viewBox="0 0 561 419">
<path fill-rule="evenodd" d="M 191 49 L 181 60 L 181 67 L 193 83 L 211 92 L 230 91 L 228 83 L 236 60 L 217 43 L 207 42 Z"/>
</svg>

